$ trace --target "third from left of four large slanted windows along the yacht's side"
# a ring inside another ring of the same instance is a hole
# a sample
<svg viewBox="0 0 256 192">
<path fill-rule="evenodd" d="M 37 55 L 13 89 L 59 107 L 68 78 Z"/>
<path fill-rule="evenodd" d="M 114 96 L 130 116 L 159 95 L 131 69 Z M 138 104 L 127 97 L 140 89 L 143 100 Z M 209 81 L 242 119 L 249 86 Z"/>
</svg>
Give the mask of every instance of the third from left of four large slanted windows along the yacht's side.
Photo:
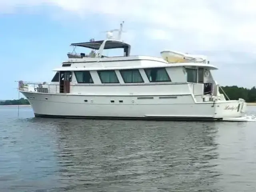
<svg viewBox="0 0 256 192">
<path fill-rule="evenodd" d="M 143 83 L 142 76 L 138 69 L 120 70 L 120 74 L 125 83 Z"/>
</svg>

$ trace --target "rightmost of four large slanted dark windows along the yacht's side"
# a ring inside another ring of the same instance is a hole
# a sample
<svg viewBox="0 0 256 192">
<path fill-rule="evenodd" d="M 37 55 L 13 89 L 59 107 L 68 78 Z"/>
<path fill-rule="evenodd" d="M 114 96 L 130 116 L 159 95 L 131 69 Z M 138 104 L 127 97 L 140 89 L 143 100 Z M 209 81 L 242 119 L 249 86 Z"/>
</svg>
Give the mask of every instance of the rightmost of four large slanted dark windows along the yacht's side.
<svg viewBox="0 0 256 192">
<path fill-rule="evenodd" d="M 170 82 L 171 81 L 165 68 L 148 68 L 148 69 L 145 69 L 145 72 L 150 82 Z"/>
</svg>

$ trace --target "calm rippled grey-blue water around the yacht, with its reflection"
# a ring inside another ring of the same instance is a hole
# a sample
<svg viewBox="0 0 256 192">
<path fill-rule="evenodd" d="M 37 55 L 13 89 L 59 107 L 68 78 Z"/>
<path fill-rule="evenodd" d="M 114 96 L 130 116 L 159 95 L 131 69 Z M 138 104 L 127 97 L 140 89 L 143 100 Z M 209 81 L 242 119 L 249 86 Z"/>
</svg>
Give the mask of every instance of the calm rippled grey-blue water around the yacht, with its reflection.
<svg viewBox="0 0 256 192">
<path fill-rule="evenodd" d="M 254 122 L 19 115 L 0 106 L 0 192 L 255 192 Z"/>
</svg>

